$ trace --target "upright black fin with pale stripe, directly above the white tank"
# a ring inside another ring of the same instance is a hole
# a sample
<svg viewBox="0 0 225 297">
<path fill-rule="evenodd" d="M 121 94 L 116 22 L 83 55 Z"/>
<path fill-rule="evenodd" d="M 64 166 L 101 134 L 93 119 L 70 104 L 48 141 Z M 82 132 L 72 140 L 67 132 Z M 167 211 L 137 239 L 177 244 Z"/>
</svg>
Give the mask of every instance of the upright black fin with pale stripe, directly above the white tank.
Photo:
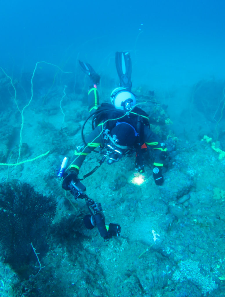
<svg viewBox="0 0 225 297">
<path fill-rule="evenodd" d="M 131 57 L 129 52 L 116 52 L 116 70 L 120 78 L 120 86 L 131 90 Z"/>
</svg>

